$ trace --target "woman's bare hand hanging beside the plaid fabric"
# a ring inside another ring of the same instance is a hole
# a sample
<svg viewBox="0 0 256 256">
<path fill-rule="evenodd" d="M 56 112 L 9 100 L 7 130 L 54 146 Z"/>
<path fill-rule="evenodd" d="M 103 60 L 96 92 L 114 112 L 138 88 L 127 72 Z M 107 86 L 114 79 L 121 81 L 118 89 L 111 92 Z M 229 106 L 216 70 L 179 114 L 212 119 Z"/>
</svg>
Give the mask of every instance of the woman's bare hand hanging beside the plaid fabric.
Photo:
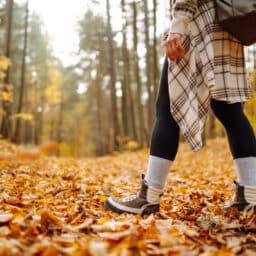
<svg viewBox="0 0 256 256">
<path fill-rule="evenodd" d="M 185 49 L 182 46 L 182 35 L 169 33 L 165 43 L 166 56 L 170 60 L 181 59 L 184 56 Z"/>
</svg>

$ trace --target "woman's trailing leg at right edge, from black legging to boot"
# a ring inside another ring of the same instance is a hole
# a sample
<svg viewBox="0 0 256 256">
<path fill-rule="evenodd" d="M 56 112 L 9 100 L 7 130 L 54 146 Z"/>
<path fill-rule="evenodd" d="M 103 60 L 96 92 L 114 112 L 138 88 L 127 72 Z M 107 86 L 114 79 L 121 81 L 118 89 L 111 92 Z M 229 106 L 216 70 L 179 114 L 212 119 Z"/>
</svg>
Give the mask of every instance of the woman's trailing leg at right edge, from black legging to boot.
<svg viewBox="0 0 256 256">
<path fill-rule="evenodd" d="M 249 203 L 256 205 L 255 135 L 241 103 L 212 100 L 211 107 L 226 129 L 238 176 L 235 200 L 226 209 L 235 207 L 243 210 Z"/>
</svg>

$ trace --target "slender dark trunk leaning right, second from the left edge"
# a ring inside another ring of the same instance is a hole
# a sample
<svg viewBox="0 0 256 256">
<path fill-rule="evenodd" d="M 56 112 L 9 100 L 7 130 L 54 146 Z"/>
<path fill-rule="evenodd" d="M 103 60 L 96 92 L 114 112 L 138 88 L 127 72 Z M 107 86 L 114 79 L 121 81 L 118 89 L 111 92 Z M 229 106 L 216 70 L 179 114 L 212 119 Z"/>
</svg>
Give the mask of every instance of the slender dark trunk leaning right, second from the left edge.
<svg viewBox="0 0 256 256">
<path fill-rule="evenodd" d="M 21 80 L 20 80 L 20 95 L 19 95 L 19 102 L 18 102 L 18 109 L 17 113 L 20 114 L 22 112 L 23 107 L 23 95 L 24 91 L 26 90 L 25 87 L 25 77 L 26 77 L 26 56 L 27 56 L 27 38 L 28 38 L 28 17 L 29 17 L 29 0 L 26 3 L 26 16 L 25 16 L 25 29 L 24 29 L 24 46 L 23 46 L 23 55 L 22 55 L 22 65 L 21 65 Z M 16 130 L 14 133 L 14 141 L 16 143 L 20 143 L 20 118 L 17 119 L 16 122 Z"/>
</svg>

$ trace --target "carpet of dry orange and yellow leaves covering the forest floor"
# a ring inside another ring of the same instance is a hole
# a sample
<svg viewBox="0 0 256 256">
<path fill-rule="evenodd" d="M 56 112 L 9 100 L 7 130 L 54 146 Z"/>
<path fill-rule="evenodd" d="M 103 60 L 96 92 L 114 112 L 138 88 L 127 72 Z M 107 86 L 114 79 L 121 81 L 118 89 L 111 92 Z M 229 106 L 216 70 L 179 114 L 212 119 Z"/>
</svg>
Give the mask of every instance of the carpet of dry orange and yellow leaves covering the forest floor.
<svg viewBox="0 0 256 256">
<path fill-rule="evenodd" d="M 89 159 L 47 157 L 0 144 L 0 255 L 256 255 L 256 215 L 222 214 L 235 173 L 225 140 L 181 144 L 161 211 L 106 211 L 137 192 L 148 150 Z"/>
</svg>

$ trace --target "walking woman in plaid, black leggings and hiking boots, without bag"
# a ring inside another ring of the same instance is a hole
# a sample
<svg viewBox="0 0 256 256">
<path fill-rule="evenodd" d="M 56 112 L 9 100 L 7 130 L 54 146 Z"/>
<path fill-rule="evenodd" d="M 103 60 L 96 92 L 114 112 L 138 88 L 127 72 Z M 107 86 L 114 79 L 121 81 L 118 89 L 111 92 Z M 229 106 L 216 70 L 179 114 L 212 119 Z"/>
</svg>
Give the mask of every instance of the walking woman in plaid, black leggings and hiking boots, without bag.
<svg viewBox="0 0 256 256">
<path fill-rule="evenodd" d="M 193 150 L 200 149 L 209 107 L 226 129 L 238 176 L 235 200 L 225 209 L 255 206 L 256 141 L 242 108 L 249 94 L 243 46 L 214 22 L 213 0 L 176 0 L 172 14 L 141 191 L 123 199 L 109 197 L 105 206 L 118 213 L 159 211 L 179 130 Z"/>
</svg>

